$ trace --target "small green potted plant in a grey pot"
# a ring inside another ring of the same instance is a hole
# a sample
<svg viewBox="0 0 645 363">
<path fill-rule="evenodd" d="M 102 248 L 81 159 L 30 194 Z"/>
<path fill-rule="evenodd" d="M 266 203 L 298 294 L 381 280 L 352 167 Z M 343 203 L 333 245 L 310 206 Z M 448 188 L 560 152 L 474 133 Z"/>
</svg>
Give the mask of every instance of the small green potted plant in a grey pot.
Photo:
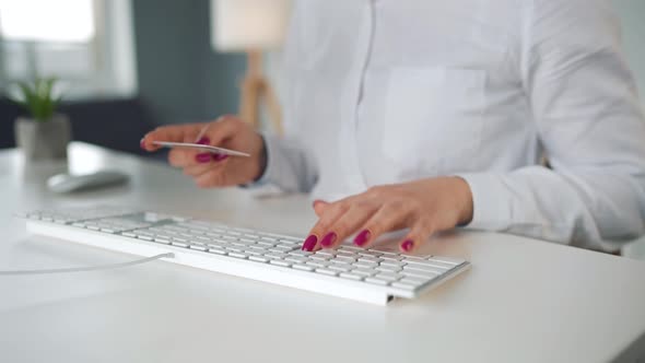
<svg viewBox="0 0 645 363">
<path fill-rule="evenodd" d="M 36 79 L 17 84 L 20 95 L 13 98 L 30 117 L 15 121 L 15 142 L 27 160 L 58 160 L 67 157 L 71 126 L 66 115 L 56 113 L 60 97 L 54 95 L 56 79 Z"/>
</svg>

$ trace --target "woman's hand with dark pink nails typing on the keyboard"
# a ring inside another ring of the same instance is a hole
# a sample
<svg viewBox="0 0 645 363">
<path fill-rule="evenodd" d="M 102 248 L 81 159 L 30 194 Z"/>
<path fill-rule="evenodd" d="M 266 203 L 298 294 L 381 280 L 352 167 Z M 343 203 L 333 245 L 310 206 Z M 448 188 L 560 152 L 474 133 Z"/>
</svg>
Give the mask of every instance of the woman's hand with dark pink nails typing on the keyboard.
<svg viewBox="0 0 645 363">
<path fill-rule="evenodd" d="M 303 250 L 333 248 L 355 233 L 354 244 L 368 247 L 383 233 L 409 227 L 399 247 L 410 253 L 434 232 L 470 222 L 472 195 L 466 180 L 439 177 L 372 187 L 333 203 L 316 200 L 314 209 L 319 220 Z"/>
</svg>

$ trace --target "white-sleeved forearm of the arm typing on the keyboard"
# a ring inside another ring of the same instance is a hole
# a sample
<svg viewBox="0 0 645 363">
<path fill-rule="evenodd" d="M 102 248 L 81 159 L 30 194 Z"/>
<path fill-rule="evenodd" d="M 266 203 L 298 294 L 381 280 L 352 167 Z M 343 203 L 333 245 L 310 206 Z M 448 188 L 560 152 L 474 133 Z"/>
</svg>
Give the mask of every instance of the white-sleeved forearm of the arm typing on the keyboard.
<svg viewBox="0 0 645 363">
<path fill-rule="evenodd" d="M 460 176 L 472 192 L 471 229 L 607 250 L 645 231 L 643 175 L 531 166 Z"/>
</svg>

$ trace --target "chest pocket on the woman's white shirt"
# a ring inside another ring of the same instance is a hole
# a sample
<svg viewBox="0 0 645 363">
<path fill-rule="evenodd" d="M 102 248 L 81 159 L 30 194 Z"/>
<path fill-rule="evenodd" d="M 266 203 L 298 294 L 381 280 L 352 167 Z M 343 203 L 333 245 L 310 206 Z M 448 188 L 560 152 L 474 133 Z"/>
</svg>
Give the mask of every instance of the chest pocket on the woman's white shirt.
<svg viewBox="0 0 645 363">
<path fill-rule="evenodd" d="M 399 174 L 471 169 L 481 144 L 485 72 L 397 68 L 386 92 L 383 152 Z"/>
</svg>

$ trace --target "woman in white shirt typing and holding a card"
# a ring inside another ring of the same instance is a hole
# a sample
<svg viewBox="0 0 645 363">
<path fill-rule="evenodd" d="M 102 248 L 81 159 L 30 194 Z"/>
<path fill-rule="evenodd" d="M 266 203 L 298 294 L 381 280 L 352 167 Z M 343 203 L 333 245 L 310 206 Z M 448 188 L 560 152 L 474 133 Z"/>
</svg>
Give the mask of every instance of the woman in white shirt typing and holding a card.
<svg viewBox="0 0 645 363">
<path fill-rule="evenodd" d="M 620 44 L 605 0 L 298 1 L 288 137 L 226 116 L 199 141 L 253 157 L 169 163 L 200 187 L 310 191 L 305 250 L 409 229 L 412 251 L 458 225 L 617 250 L 645 231 L 645 121 Z"/>
</svg>

